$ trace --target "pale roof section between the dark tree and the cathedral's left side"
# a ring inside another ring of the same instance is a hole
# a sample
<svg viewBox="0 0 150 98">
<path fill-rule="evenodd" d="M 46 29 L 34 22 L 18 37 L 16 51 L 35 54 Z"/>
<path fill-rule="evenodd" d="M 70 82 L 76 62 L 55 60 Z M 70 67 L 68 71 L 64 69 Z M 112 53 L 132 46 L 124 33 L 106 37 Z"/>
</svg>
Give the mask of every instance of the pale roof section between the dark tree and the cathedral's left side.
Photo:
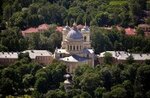
<svg viewBox="0 0 150 98">
<path fill-rule="evenodd" d="M 52 56 L 52 53 L 47 50 L 26 50 L 22 53 L 29 53 L 31 59 L 35 59 L 37 56 Z"/>
</svg>

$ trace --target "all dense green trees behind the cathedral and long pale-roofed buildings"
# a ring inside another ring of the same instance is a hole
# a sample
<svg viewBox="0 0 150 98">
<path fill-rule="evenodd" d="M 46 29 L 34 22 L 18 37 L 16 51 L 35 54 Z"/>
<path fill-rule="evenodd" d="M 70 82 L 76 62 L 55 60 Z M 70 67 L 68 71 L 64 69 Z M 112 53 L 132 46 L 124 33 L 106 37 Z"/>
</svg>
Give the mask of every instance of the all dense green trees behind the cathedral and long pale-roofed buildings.
<svg viewBox="0 0 150 98">
<path fill-rule="evenodd" d="M 20 31 L 42 23 L 65 25 L 68 22 L 71 25 L 76 21 L 93 26 L 92 46 L 96 53 L 105 50 L 149 52 L 149 39 L 128 37 L 114 29 L 107 31 L 98 28 L 143 23 L 143 10 L 148 8 L 146 5 L 146 0 L 2 0 L 0 51 L 46 49 L 53 52 L 61 45 L 61 34 L 55 31 L 55 26 L 29 39 L 23 38 Z M 149 18 L 146 22 L 149 22 Z M 139 32 L 139 35 L 143 35 L 142 31 Z"/>
</svg>

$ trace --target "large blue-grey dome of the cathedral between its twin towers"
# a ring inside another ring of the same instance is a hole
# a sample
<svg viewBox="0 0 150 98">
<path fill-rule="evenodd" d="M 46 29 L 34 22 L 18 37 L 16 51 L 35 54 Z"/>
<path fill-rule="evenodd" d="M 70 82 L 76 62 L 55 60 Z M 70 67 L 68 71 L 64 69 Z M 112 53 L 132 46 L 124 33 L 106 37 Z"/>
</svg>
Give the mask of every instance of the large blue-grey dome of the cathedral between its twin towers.
<svg viewBox="0 0 150 98">
<path fill-rule="evenodd" d="M 69 33 L 67 34 L 67 39 L 71 39 L 71 40 L 82 40 L 83 39 L 83 35 L 82 33 L 77 30 L 77 29 L 72 29 L 69 31 Z"/>
</svg>

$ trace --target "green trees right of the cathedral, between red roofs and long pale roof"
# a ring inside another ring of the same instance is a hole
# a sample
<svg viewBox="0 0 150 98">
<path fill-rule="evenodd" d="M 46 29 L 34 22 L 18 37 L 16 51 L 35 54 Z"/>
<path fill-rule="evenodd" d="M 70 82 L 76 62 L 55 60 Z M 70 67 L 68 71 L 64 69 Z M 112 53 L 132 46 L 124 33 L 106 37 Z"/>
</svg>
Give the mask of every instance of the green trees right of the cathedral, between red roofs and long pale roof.
<svg viewBox="0 0 150 98">
<path fill-rule="evenodd" d="M 145 38 L 141 34 L 127 36 L 124 30 L 118 31 L 116 28 L 106 30 L 93 26 L 91 27 L 91 39 L 95 53 L 103 51 L 150 52 L 150 38 Z"/>
</svg>

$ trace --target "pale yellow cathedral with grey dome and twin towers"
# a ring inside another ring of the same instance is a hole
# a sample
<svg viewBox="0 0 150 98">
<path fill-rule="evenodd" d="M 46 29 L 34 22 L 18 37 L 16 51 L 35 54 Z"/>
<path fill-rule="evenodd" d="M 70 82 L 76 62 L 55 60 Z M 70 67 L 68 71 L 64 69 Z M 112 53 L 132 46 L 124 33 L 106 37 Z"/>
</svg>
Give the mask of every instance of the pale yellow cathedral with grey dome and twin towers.
<svg viewBox="0 0 150 98">
<path fill-rule="evenodd" d="M 65 26 L 62 31 L 60 49 L 55 49 L 54 58 L 67 65 L 67 71 L 73 73 L 79 65 L 88 64 L 94 67 L 94 51 L 91 48 L 90 29 L 84 26 L 81 30 L 76 23 Z"/>
</svg>

